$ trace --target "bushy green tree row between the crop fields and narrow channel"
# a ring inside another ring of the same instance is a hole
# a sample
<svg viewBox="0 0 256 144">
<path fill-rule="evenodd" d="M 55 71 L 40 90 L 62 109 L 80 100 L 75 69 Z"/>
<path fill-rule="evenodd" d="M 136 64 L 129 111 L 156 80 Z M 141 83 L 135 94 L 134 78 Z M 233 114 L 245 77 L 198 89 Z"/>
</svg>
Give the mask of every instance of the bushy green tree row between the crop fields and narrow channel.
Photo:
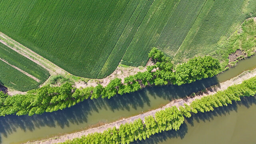
<svg viewBox="0 0 256 144">
<path fill-rule="evenodd" d="M 156 64 L 148 66 L 146 72 L 138 72 L 136 75 L 126 77 L 124 83 L 120 78 L 115 78 L 106 87 L 98 84 L 96 87 L 74 88 L 72 84 L 66 83 L 56 87 L 48 84 L 30 90 L 27 94 L 14 96 L 0 92 L 0 116 L 8 114 L 32 116 L 53 112 L 74 106 L 88 98 L 111 98 L 116 94 L 135 92 L 146 86 L 181 85 L 213 77 L 220 72 L 220 62 L 211 56 L 195 57 L 188 62 L 178 64 L 175 68 L 169 57 L 157 48 L 152 48 L 148 56 Z"/>
</svg>

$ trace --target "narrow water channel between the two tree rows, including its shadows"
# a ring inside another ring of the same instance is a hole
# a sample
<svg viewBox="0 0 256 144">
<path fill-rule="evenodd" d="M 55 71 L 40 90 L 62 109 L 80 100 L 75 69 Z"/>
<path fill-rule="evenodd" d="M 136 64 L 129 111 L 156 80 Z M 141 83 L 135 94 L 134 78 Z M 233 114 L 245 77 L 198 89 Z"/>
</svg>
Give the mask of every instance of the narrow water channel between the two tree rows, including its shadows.
<svg viewBox="0 0 256 144">
<path fill-rule="evenodd" d="M 114 122 L 141 112 L 159 108 L 172 100 L 183 98 L 209 86 L 224 82 L 243 71 L 256 68 L 256 56 L 242 60 L 235 68 L 214 78 L 182 86 L 145 88 L 111 99 L 85 100 L 76 106 L 35 116 L 1 116 L 0 143 L 18 144 L 71 133 L 91 125 Z"/>
</svg>

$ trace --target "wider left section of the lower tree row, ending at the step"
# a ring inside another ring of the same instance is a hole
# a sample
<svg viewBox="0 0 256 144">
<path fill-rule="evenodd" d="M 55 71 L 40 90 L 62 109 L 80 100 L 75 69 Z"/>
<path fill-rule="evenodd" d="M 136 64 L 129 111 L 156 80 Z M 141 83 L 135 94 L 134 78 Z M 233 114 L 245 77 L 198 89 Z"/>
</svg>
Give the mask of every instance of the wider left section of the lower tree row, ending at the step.
<svg viewBox="0 0 256 144">
<path fill-rule="evenodd" d="M 155 118 L 147 116 L 144 121 L 137 119 L 132 123 L 121 124 L 120 128 L 109 128 L 103 133 L 93 133 L 82 138 L 68 140 L 63 144 L 129 144 L 166 130 L 178 130 L 184 116 L 177 107 L 156 112 Z"/>
</svg>

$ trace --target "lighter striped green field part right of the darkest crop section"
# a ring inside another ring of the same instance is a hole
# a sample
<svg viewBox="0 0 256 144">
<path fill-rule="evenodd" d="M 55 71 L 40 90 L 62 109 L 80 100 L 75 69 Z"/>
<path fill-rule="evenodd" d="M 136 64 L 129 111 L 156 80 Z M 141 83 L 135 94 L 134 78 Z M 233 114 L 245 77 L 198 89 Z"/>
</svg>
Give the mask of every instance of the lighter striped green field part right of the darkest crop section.
<svg viewBox="0 0 256 144">
<path fill-rule="evenodd" d="M 159 4 L 155 6 L 156 2 Z M 152 47 L 166 52 L 175 63 L 210 54 L 217 49 L 218 42 L 226 40 L 244 20 L 253 16 L 256 16 L 255 0 L 155 1 L 122 63 L 145 65 L 146 53 Z"/>
</svg>

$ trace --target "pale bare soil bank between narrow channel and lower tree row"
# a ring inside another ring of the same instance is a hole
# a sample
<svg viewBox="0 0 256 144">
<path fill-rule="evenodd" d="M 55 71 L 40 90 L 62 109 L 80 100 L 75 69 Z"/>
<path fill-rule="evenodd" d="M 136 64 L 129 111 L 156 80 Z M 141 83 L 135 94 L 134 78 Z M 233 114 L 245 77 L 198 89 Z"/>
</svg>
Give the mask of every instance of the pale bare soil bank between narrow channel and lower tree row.
<svg viewBox="0 0 256 144">
<path fill-rule="evenodd" d="M 206 92 L 201 92 L 194 97 L 187 97 L 187 98 L 183 98 L 183 99 L 174 100 L 174 101 L 170 102 L 169 104 L 167 104 L 166 106 L 163 106 L 162 108 L 158 108 L 156 110 L 152 110 L 152 111 L 146 112 L 144 114 L 132 116 L 130 118 L 126 118 L 126 119 L 122 119 L 122 120 L 118 120 L 116 122 L 113 122 L 110 124 L 105 124 L 105 125 L 99 126 L 97 128 L 90 128 L 88 130 L 84 130 L 81 132 L 75 132 L 73 134 L 66 134 L 66 135 L 60 136 L 60 137 L 31 142 L 30 144 L 54 144 L 54 143 L 64 142 L 65 140 L 68 140 L 68 139 L 80 138 L 83 135 L 88 135 L 88 134 L 94 133 L 94 132 L 103 132 L 104 130 L 107 130 L 108 128 L 112 128 L 114 126 L 116 126 L 116 128 L 119 128 L 119 126 L 121 124 L 125 124 L 127 122 L 133 122 L 134 120 L 136 120 L 138 118 L 144 120 L 144 118 L 146 116 L 149 116 L 149 115 L 154 116 L 156 114 L 156 112 L 158 112 L 160 110 L 164 110 L 165 108 L 168 108 L 171 106 L 178 107 L 178 106 L 183 106 L 184 104 L 189 105 L 189 104 L 191 104 L 192 101 L 194 101 L 196 99 L 200 99 L 200 98 L 210 95 L 210 94 L 215 94 L 216 92 L 218 92 L 220 90 L 226 90 L 229 86 L 232 86 L 234 84 L 241 84 L 244 80 L 247 80 L 254 76 L 256 76 L 256 69 L 254 69 L 252 71 L 246 71 L 246 72 L 240 74 L 239 76 L 232 78 L 231 80 L 227 80 L 226 82 L 222 82 L 222 83 L 218 84 L 217 86 L 212 86 L 212 87 L 208 88 Z"/>
</svg>

